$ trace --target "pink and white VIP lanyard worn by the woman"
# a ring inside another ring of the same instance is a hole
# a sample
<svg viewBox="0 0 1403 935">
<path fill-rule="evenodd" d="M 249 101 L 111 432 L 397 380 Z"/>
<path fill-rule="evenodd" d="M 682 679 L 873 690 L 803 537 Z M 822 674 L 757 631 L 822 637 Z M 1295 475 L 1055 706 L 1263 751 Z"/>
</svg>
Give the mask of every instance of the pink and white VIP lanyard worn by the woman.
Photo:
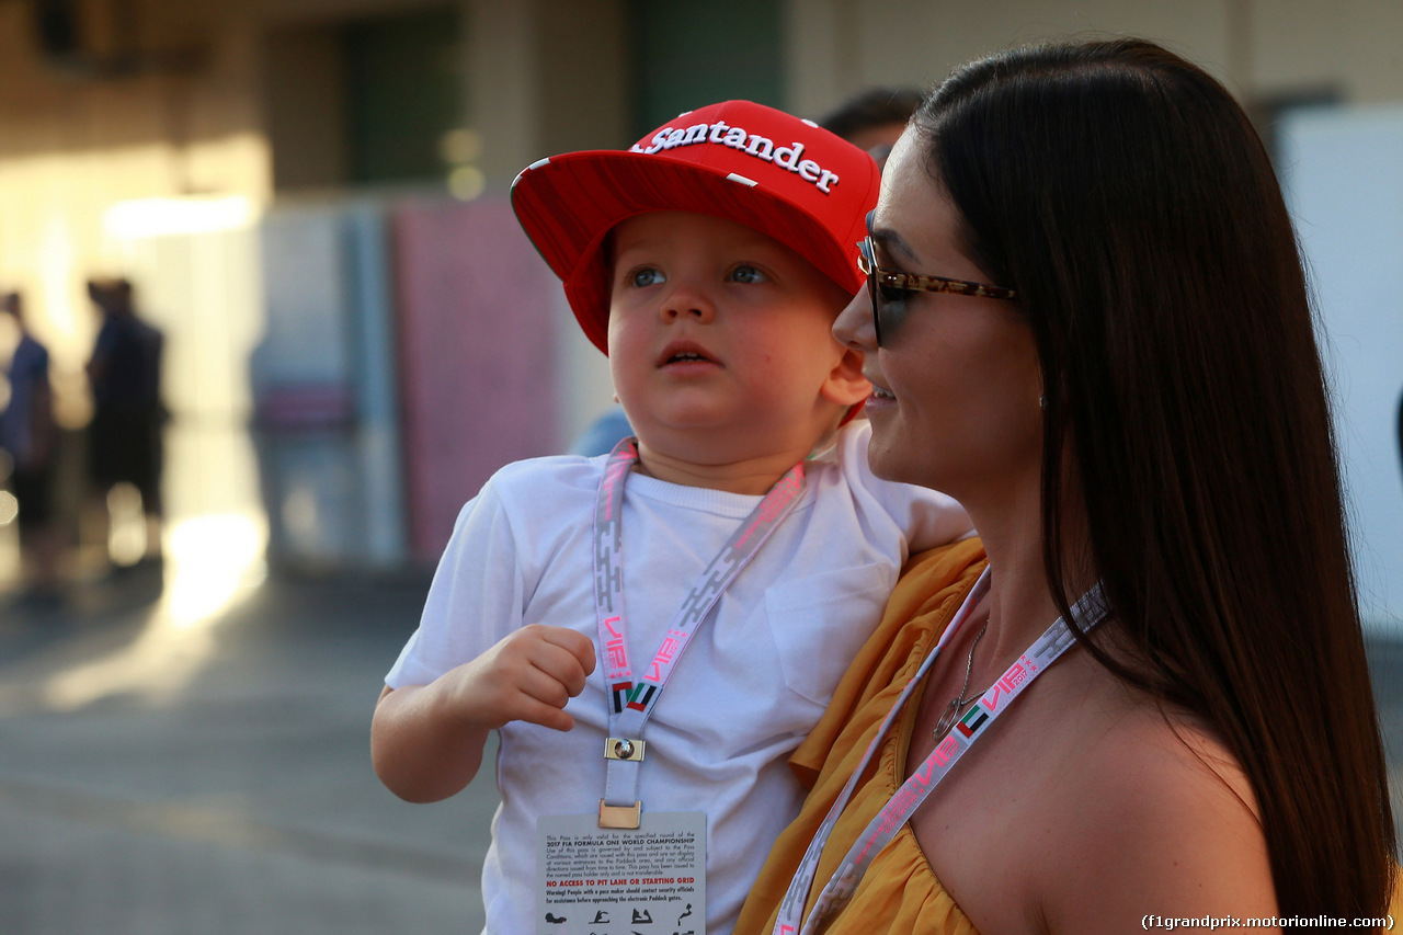
<svg viewBox="0 0 1403 935">
<path fill-rule="evenodd" d="M 804 920 L 804 901 L 808 898 L 808 893 L 814 884 L 814 876 L 818 872 L 818 861 L 824 852 L 824 845 L 828 842 L 829 834 L 832 834 L 833 825 L 838 817 L 842 814 L 847 802 L 852 799 L 853 790 L 857 788 L 857 781 L 867 769 L 881 745 L 882 738 L 891 729 L 892 723 L 897 720 L 901 709 L 905 706 L 906 701 L 911 699 L 916 687 L 930 671 L 932 664 L 939 658 L 940 651 L 946 647 L 955 632 L 964 625 L 965 619 L 969 616 L 969 611 L 979 602 L 979 599 L 989 590 L 989 569 L 985 569 L 975 581 L 974 588 L 969 591 L 969 597 L 961 605 L 958 614 L 951 621 L 950 626 L 940 636 L 936 643 L 934 650 L 926 657 L 916 671 L 916 675 L 908 682 L 906 688 L 902 691 L 897 703 L 887 713 L 882 720 L 877 736 L 867 745 L 867 752 L 863 754 L 863 760 L 857 764 L 853 775 L 849 776 L 847 785 L 838 795 L 838 800 L 828 810 L 828 816 L 819 825 L 818 831 L 814 834 L 814 840 L 810 841 L 808 851 L 804 852 L 804 859 L 800 862 L 798 869 L 794 870 L 794 877 L 790 880 L 788 891 L 784 894 L 784 901 L 780 904 L 780 911 L 774 922 L 773 935 L 812 935 L 822 931 L 828 920 L 840 910 L 849 898 L 852 898 L 853 891 L 861 882 L 863 875 L 867 873 L 868 865 L 877 854 L 887 847 L 887 844 L 897 837 L 901 827 L 906 824 L 920 803 L 926 800 L 926 796 L 940 783 L 941 779 L 948 775 L 950 769 L 958 762 L 960 757 L 965 754 L 967 750 L 974 744 L 975 740 L 984 736 L 989 729 L 989 724 L 995 722 L 1009 705 L 1023 694 L 1034 678 L 1041 675 L 1047 668 L 1056 661 L 1059 656 L 1072 643 L 1075 637 L 1066 621 L 1058 618 L 1052 626 L 1044 630 L 1042 636 L 1034 640 L 1024 653 L 1007 668 L 1003 675 L 989 687 L 981 698 L 979 702 L 969 709 L 969 712 L 955 722 L 954 729 L 936 744 L 936 748 L 930 751 L 915 772 L 901 785 L 901 789 L 892 795 L 892 797 L 882 806 L 881 811 L 867 824 L 863 833 L 857 837 L 857 841 L 847 849 L 846 856 L 843 856 L 842 863 L 829 877 L 828 883 L 819 891 L 818 898 L 814 903 L 814 911 L 810 913 L 808 918 Z M 1093 626 L 1101 622 L 1106 616 L 1107 608 L 1101 597 L 1100 584 L 1096 584 L 1078 598 L 1076 604 L 1072 605 L 1072 618 L 1078 622 L 1082 632 L 1090 630 Z"/>
</svg>

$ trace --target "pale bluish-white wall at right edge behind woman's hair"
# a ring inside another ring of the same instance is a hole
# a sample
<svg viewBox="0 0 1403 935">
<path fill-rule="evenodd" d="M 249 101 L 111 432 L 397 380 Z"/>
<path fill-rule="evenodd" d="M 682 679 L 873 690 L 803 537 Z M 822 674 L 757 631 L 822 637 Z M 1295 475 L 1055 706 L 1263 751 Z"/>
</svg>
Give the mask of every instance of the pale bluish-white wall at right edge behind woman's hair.
<svg viewBox="0 0 1403 935">
<path fill-rule="evenodd" d="M 1326 331 L 1361 612 L 1403 636 L 1403 107 L 1295 114 L 1281 143 Z"/>
</svg>

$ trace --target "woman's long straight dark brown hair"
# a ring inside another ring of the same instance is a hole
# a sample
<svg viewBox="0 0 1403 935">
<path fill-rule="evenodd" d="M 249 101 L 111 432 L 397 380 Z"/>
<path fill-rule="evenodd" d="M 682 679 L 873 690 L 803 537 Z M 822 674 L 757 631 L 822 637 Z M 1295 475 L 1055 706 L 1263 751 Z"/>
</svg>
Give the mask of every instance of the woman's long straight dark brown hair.
<svg viewBox="0 0 1403 935">
<path fill-rule="evenodd" d="M 1063 611 L 1066 448 L 1134 658 L 1090 650 L 1242 762 L 1282 914 L 1383 915 L 1395 833 L 1327 389 L 1257 133 L 1138 39 L 975 62 L 913 125 L 971 258 L 1035 334 Z"/>
</svg>

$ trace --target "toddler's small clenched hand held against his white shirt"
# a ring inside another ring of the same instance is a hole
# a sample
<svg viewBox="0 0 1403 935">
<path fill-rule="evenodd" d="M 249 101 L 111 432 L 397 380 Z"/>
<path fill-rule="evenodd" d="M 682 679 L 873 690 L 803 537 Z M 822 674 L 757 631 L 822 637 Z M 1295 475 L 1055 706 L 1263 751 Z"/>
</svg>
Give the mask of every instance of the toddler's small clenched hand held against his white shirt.
<svg viewBox="0 0 1403 935">
<path fill-rule="evenodd" d="M 595 671 L 595 644 L 560 626 L 529 623 L 459 670 L 455 708 L 495 730 L 525 720 L 570 730 L 565 702 L 585 689 Z"/>
</svg>

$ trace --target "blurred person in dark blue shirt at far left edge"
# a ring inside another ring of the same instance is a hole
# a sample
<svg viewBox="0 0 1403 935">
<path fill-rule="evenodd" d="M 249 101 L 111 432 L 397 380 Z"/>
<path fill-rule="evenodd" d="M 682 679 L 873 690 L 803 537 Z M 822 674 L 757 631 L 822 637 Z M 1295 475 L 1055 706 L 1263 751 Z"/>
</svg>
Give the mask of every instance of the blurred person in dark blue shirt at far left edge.
<svg viewBox="0 0 1403 935">
<path fill-rule="evenodd" d="M 18 330 L 14 354 L 4 376 L 10 393 L 0 413 L 0 448 L 7 487 L 18 504 L 20 550 L 25 583 L 34 597 L 49 598 L 58 590 L 58 529 L 53 524 L 53 390 L 49 386 L 49 351 L 29 333 L 24 298 L 7 292 L 0 313 Z"/>
</svg>

